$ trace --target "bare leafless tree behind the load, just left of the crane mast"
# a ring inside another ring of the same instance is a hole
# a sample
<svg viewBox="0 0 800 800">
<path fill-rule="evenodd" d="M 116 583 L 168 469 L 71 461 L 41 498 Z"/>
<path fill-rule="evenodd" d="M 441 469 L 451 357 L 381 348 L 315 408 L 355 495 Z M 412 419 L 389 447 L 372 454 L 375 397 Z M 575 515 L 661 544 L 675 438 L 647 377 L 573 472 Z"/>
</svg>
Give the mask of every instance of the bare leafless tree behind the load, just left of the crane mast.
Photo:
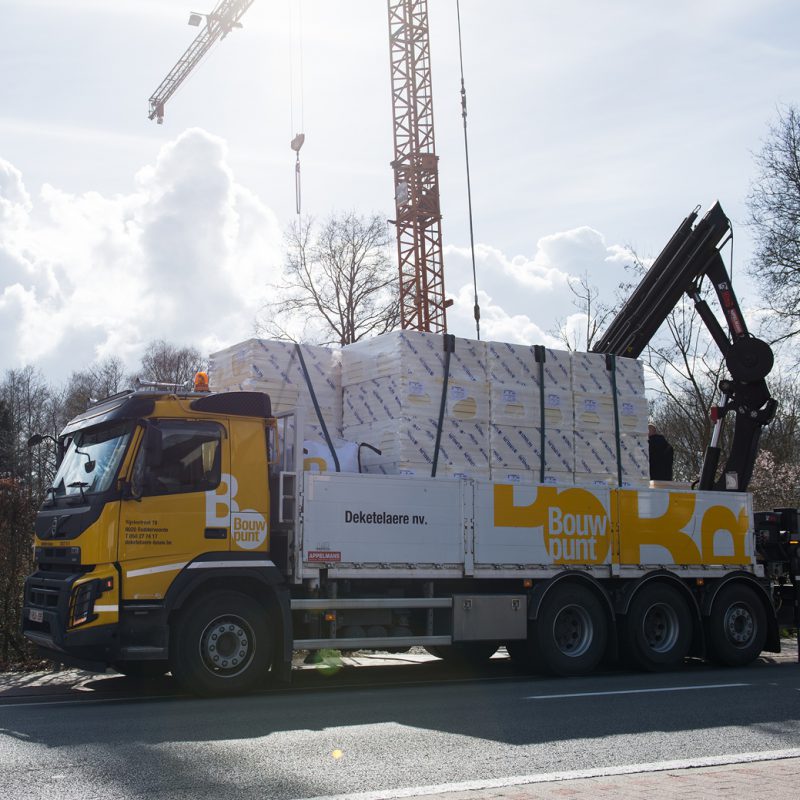
<svg viewBox="0 0 800 800">
<path fill-rule="evenodd" d="M 273 286 L 257 325 L 278 339 L 351 344 L 393 330 L 400 319 L 399 279 L 385 220 L 333 215 L 317 230 L 303 218 L 286 233 L 284 279 Z"/>
</svg>

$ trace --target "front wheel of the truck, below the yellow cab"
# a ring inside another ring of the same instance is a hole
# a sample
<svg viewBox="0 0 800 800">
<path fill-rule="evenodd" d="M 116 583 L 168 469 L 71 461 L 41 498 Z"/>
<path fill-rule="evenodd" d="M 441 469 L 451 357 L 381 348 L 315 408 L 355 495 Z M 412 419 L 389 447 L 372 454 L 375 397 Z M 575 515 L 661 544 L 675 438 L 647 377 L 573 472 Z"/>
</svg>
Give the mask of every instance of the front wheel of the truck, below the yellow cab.
<svg viewBox="0 0 800 800">
<path fill-rule="evenodd" d="M 195 694 L 246 692 L 272 663 L 267 611 L 239 592 L 213 592 L 191 603 L 173 636 L 172 674 Z"/>
</svg>

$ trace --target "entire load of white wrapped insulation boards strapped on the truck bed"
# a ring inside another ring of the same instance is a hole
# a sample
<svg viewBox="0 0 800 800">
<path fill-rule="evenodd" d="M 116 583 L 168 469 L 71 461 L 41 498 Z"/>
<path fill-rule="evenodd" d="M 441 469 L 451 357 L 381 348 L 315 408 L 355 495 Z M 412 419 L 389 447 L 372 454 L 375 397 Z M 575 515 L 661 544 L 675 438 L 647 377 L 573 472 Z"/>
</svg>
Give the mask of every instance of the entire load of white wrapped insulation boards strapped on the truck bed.
<svg viewBox="0 0 800 800">
<path fill-rule="evenodd" d="M 364 471 L 431 474 L 443 344 L 396 331 L 341 350 L 303 345 L 331 436 L 381 451 L 362 450 Z M 615 486 L 621 474 L 623 486 L 647 486 L 642 365 L 615 365 L 612 374 L 602 354 L 456 338 L 437 475 Z M 214 353 L 210 381 L 214 391 L 267 392 L 276 412 L 300 406 L 304 438 L 323 440 L 294 344 L 251 339 Z"/>
</svg>

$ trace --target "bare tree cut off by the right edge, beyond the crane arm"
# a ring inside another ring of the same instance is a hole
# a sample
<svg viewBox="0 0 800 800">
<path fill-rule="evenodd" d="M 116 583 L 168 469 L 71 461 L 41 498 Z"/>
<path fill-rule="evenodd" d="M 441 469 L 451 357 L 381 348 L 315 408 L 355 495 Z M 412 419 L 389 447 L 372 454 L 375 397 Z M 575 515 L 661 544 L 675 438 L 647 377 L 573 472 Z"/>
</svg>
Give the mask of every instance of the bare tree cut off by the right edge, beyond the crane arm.
<svg viewBox="0 0 800 800">
<path fill-rule="evenodd" d="M 800 333 L 800 111 L 779 110 L 747 198 L 756 235 L 752 269 L 779 323 L 780 338 Z"/>
</svg>

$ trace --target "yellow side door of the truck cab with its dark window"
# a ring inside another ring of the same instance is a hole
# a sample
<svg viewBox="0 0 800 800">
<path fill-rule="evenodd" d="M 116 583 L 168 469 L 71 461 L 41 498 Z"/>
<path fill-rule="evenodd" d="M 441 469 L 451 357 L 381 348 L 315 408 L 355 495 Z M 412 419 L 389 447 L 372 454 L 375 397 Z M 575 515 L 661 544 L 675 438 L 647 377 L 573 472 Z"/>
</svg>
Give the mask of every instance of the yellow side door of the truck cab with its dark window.
<svg viewBox="0 0 800 800">
<path fill-rule="evenodd" d="M 161 599 L 188 562 L 229 549 L 228 527 L 207 520 L 207 498 L 229 498 L 229 475 L 230 448 L 222 424 L 148 422 L 131 469 L 132 497 L 120 504 L 123 599 Z"/>
</svg>

